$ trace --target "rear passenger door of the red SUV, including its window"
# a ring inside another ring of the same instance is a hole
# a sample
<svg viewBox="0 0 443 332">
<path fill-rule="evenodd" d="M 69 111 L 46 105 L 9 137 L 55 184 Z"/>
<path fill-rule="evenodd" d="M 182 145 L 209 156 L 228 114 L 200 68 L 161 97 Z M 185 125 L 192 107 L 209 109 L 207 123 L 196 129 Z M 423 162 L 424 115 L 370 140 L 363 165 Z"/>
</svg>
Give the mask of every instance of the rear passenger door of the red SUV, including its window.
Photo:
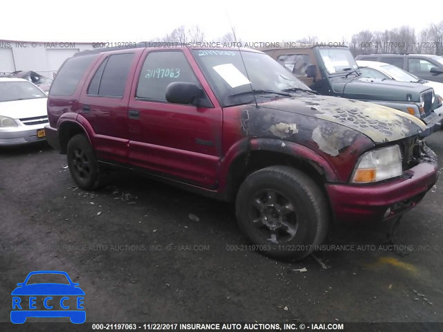
<svg viewBox="0 0 443 332">
<path fill-rule="evenodd" d="M 127 163 L 127 104 L 137 59 L 134 52 L 107 54 L 83 86 L 79 117 L 93 129 L 91 140 L 100 160 Z"/>
</svg>

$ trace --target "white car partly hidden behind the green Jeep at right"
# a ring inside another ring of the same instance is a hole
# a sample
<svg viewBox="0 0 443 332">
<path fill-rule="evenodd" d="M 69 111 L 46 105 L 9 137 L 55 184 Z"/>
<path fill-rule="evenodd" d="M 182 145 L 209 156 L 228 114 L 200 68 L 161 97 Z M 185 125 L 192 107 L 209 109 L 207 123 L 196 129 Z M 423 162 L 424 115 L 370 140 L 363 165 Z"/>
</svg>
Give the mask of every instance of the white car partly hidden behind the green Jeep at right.
<svg viewBox="0 0 443 332">
<path fill-rule="evenodd" d="M 359 66 L 361 77 L 385 78 L 388 80 L 424 84 L 426 86 L 431 86 L 437 95 L 443 97 L 443 83 L 422 80 L 408 71 L 404 71 L 392 64 L 385 64 L 384 62 L 357 60 L 356 63 Z M 440 111 L 437 114 L 440 116 L 442 113 L 443 111 Z"/>
</svg>

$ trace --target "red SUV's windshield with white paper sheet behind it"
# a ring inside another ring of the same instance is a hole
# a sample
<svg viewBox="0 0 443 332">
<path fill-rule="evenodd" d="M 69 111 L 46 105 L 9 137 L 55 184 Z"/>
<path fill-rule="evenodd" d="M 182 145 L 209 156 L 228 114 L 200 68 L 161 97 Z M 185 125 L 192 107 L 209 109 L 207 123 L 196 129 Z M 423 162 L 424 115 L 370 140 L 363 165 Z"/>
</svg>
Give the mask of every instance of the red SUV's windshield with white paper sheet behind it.
<svg viewBox="0 0 443 332">
<path fill-rule="evenodd" d="M 251 89 L 256 92 L 255 98 L 260 102 L 266 98 L 284 97 L 287 95 L 282 93 L 285 89 L 310 90 L 286 68 L 263 53 L 242 51 L 240 54 L 239 50 L 192 50 L 192 52 L 211 88 L 224 106 L 253 102 L 254 95 Z"/>
</svg>

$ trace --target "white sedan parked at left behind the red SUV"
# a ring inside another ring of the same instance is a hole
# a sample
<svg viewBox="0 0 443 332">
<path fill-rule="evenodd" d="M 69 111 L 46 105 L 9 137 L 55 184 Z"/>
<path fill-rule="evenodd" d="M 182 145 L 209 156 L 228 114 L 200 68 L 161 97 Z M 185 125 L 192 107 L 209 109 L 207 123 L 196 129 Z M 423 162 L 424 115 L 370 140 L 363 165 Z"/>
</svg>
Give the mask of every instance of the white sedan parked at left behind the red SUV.
<svg viewBox="0 0 443 332">
<path fill-rule="evenodd" d="M 28 80 L 0 77 L 0 147 L 46 139 L 47 99 Z"/>
</svg>

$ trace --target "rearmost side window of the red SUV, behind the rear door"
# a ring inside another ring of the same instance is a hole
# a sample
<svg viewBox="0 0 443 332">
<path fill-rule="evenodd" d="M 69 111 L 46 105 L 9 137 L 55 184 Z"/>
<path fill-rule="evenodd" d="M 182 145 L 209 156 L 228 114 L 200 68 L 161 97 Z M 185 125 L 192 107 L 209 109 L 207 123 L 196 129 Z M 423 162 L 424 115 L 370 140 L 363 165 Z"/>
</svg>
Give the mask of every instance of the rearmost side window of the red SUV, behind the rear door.
<svg viewBox="0 0 443 332">
<path fill-rule="evenodd" d="M 55 76 L 50 95 L 72 95 L 84 72 L 97 55 L 84 55 L 67 59 Z"/>
</svg>

